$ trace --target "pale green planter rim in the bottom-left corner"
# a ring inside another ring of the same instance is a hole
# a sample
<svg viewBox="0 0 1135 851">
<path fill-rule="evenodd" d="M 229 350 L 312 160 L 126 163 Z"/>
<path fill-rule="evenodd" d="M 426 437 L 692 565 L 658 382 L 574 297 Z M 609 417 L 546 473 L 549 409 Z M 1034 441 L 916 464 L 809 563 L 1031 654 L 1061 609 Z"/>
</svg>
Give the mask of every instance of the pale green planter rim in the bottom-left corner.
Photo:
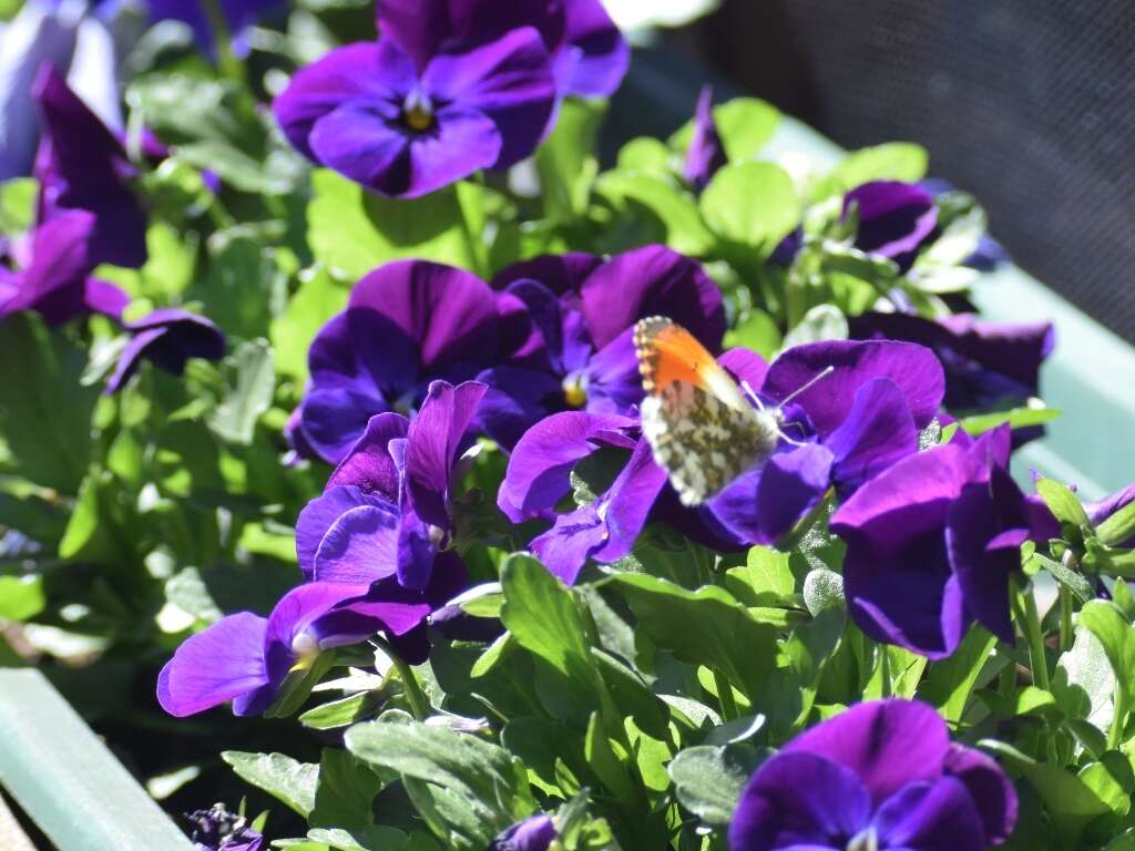
<svg viewBox="0 0 1135 851">
<path fill-rule="evenodd" d="M 0 783 L 59 851 L 193 851 L 40 672 L 0 668 Z"/>
</svg>

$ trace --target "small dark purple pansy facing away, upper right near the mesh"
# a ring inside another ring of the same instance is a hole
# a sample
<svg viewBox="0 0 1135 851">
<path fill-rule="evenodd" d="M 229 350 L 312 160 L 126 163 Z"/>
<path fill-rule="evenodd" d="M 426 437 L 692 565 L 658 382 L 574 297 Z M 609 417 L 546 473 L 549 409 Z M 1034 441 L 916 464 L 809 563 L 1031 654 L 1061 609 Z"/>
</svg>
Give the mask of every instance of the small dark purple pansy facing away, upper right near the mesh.
<svg viewBox="0 0 1135 851">
<path fill-rule="evenodd" d="M 843 216 L 857 210 L 855 246 L 889 258 L 903 271 L 938 227 L 934 197 L 917 184 L 873 180 L 843 196 Z"/>
</svg>

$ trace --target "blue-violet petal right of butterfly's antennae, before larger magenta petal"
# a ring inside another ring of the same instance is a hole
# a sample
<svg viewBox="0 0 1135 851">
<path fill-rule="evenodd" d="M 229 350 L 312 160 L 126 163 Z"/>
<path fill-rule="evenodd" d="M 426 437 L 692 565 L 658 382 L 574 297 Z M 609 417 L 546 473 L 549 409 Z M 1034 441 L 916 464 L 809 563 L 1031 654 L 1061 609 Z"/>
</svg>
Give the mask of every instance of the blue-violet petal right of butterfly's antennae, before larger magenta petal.
<svg viewBox="0 0 1135 851">
<path fill-rule="evenodd" d="M 889 378 L 873 378 L 856 390 L 847 419 L 824 445 L 835 456 L 835 483 L 846 498 L 918 452 L 918 428 L 899 386 Z"/>
</svg>

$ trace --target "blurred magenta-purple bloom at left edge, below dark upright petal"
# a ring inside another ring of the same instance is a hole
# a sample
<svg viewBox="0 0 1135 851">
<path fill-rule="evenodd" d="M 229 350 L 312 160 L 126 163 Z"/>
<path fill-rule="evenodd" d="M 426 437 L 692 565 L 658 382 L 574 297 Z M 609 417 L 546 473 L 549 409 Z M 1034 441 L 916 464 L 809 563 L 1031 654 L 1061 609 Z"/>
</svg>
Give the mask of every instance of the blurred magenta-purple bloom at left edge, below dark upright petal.
<svg viewBox="0 0 1135 851">
<path fill-rule="evenodd" d="M 17 268 L 0 268 L 0 317 L 34 310 L 50 325 L 87 312 L 118 319 L 129 297 L 114 284 L 91 278 L 94 216 L 73 210 L 37 227 L 15 251 Z M 20 262 L 22 261 L 22 262 Z"/>
</svg>

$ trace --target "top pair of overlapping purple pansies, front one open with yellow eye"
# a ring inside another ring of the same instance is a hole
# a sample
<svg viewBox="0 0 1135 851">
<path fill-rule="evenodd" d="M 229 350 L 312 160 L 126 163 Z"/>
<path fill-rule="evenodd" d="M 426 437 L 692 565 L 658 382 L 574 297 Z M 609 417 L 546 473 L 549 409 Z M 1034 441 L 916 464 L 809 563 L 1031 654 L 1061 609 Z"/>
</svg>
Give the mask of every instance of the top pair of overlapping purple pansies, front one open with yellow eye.
<svg viewBox="0 0 1135 851">
<path fill-rule="evenodd" d="M 629 56 L 598 0 L 382 0 L 378 30 L 301 69 L 275 111 L 309 159 L 394 197 L 524 159 L 557 98 L 609 94 Z"/>
</svg>

